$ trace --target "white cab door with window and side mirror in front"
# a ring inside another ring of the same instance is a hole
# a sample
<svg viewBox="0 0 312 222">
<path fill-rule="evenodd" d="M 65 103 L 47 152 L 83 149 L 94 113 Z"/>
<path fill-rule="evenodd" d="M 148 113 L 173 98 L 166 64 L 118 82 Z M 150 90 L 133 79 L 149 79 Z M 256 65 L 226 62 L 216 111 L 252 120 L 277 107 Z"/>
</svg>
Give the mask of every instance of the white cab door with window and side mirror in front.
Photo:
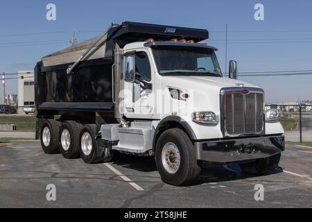
<svg viewBox="0 0 312 222">
<path fill-rule="evenodd" d="M 153 104 L 153 67 L 146 49 L 125 53 L 124 58 L 124 114 L 130 119 L 152 119 L 155 113 Z"/>
</svg>

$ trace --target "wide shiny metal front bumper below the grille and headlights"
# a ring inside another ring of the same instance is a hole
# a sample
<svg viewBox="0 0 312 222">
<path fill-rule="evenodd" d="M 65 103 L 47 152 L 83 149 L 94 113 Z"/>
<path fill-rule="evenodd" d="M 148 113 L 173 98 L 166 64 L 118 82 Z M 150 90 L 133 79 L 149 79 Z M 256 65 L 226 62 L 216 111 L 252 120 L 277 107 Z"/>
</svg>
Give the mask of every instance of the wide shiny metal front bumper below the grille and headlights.
<svg viewBox="0 0 312 222">
<path fill-rule="evenodd" d="M 285 137 L 264 136 L 195 143 L 197 160 L 242 162 L 257 160 L 285 151 Z"/>
</svg>

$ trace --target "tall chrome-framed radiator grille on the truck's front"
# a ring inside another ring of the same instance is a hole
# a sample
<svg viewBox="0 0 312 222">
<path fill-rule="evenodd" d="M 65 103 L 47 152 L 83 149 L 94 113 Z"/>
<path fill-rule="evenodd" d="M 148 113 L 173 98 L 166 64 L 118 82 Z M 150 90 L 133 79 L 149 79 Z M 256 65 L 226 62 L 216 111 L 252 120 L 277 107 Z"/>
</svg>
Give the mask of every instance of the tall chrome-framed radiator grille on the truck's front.
<svg viewBox="0 0 312 222">
<path fill-rule="evenodd" d="M 242 89 L 248 93 L 243 94 Z M 261 134 L 264 130 L 264 92 L 235 88 L 221 91 L 221 117 L 225 136 Z"/>
</svg>

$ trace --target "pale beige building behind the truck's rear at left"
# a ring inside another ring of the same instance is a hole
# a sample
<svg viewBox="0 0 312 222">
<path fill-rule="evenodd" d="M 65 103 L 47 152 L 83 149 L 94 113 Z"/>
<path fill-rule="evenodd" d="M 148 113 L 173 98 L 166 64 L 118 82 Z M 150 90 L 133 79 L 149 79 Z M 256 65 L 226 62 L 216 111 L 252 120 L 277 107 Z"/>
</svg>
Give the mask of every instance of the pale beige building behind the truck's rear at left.
<svg viewBox="0 0 312 222">
<path fill-rule="evenodd" d="M 35 77 L 33 71 L 19 71 L 18 82 L 19 112 L 24 107 L 35 105 Z"/>
</svg>

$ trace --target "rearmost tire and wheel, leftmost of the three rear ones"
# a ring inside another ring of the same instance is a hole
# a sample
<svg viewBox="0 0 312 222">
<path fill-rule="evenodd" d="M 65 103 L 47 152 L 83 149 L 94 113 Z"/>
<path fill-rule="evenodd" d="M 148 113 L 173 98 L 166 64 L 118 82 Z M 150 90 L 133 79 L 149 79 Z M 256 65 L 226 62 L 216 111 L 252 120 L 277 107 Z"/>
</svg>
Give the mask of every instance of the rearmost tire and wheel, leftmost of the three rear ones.
<svg viewBox="0 0 312 222">
<path fill-rule="evenodd" d="M 46 119 L 40 129 L 40 141 L 42 150 L 46 154 L 60 153 L 60 122 L 54 119 Z"/>
</svg>

